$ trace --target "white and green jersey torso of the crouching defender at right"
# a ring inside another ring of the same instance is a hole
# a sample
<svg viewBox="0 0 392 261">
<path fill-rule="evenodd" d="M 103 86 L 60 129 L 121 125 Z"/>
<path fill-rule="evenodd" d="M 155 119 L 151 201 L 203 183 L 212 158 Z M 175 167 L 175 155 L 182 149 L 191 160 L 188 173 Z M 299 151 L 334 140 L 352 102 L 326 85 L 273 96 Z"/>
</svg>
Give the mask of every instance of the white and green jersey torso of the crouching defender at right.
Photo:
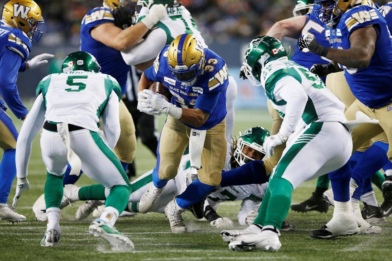
<svg viewBox="0 0 392 261">
<path fill-rule="evenodd" d="M 344 116 L 344 104 L 326 88 L 325 83 L 305 67 L 287 59 L 267 63 L 260 77 L 265 95 L 272 101 L 272 107 L 278 111 L 281 118 L 284 118 L 286 114 L 286 101 L 281 98 L 279 91 L 285 86 L 284 80 L 287 76 L 301 83 L 308 96 L 305 110 L 296 130 L 304 128 L 311 122 L 339 121 L 344 123 L 347 121 Z"/>
</svg>

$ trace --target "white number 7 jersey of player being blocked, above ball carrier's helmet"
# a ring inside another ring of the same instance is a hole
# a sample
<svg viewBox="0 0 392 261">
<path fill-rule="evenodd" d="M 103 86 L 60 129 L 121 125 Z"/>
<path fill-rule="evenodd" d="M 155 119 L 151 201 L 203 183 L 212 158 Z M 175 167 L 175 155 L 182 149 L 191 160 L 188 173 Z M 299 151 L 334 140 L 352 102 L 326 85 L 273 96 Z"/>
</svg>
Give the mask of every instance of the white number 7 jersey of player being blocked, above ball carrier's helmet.
<svg viewBox="0 0 392 261">
<path fill-rule="evenodd" d="M 142 20 L 144 16 L 149 14 L 149 11 L 147 7 L 142 7 L 136 16 L 137 21 Z M 167 8 L 167 16 L 163 17 L 155 26 L 165 31 L 166 44 L 170 44 L 180 34 L 193 34 L 201 42 L 203 48 L 208 48 L 191 13 L 185 6 Z"/>
</svg>

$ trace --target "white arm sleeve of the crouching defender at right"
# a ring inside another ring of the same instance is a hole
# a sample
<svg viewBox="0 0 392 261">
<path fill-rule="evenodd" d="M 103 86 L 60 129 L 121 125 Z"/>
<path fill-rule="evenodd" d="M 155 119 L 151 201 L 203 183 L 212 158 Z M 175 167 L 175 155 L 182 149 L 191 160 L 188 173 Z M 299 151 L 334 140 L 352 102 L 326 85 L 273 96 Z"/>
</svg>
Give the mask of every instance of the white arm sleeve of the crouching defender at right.
<svg viewBox="0 0 392 261">
<path fill-rule="evenodd" d="M 273 93 L 275 99 L 281 98 L 287 102 L 285 117 L 279 132 L 288 137 L 294 131 L 305 110 L 308 96 L 301 83 L 292 76 L 284 76 L 276 82 Z"/>
</svg>

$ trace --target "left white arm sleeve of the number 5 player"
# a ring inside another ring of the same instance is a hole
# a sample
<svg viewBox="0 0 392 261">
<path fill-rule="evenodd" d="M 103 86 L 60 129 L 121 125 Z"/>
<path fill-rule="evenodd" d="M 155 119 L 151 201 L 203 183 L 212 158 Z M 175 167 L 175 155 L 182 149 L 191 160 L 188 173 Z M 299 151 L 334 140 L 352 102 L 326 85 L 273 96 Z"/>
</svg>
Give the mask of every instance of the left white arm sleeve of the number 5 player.
<svg viewBox="0 0 392 261">
<path fill-rule="evenodd" d="M 27 165 L 31 154 L 31 143 L 34 137 L 40 131 L 45 120 L 45 106 L 44 97 L 42 94 L 38 95 L 34 101 L 33 107 L 26 117 L 20 129 L 18 141 L 16 141 L 16 176 L 18 178 L 27 177 Z"/>
</svg>

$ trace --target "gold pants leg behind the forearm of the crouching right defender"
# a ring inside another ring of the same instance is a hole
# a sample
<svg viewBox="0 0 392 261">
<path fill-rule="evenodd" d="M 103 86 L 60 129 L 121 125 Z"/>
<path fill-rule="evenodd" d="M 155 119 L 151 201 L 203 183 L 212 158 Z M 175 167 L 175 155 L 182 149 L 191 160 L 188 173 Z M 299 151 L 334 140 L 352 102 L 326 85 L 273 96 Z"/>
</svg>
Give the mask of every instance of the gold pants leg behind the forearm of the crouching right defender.
<svg viewBox="0 0 392 261">
<path fill-rule="evenodd" d="M 268 111 L 271 115 L 271 118 L 273 120 L 272 122 L 272 127 L 271 127 L 271 135 L 275 135 L 278 133 L 280 126 L 282 125 L 282 118 L 280 118 L 278 112 L 272 107 L 271 101 L 267 102 L 268 105 Z M 276 146 L 274 148 L 274 155 L 272 155 L 271 158 L 265 159 L 264 160 L 264 167 L 265 167 L 265 172 L 267 173 L 267 176 L 272 173 L 272 169 L 278 164 L 278 161 L 280 157 L 282 156 L 283 150 L 286 148 L 286 143 L 283 143 L 279 146 Z"/>
</svg>

